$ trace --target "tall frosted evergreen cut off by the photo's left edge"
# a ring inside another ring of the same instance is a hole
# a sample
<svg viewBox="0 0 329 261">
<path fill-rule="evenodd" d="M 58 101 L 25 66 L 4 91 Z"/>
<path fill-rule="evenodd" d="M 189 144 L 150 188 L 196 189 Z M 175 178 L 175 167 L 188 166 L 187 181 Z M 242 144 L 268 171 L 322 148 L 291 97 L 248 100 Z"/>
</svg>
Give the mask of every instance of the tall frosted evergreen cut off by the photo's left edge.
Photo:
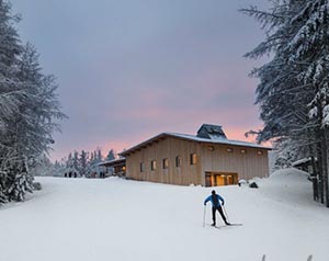
<svg viewBox="0 0 329 261">
<path fill-rule="evenodd" d="M 14 23 L 18 16 L 12 15 L 8 2 L 0 0 L 0 203 L 8 201 L 8 172 L 4 170 L 7 155 L 11 149 L 5 139 L 9 135 L 7 122 L 18 112 L 24 93 L 20 91 L 16 78 L 16 60 L 21 45 Z"/>
</svg>

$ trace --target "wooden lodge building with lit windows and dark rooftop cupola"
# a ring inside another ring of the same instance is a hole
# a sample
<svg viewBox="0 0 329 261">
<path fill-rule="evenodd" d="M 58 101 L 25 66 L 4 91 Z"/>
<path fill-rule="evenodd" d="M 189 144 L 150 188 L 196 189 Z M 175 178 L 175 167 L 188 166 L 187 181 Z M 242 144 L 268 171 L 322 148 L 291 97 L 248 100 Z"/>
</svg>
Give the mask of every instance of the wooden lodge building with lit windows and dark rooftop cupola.
<svg viewBox="0 0 329 261">
<path fill-rule="evenodd" d="M 123 151 L 120 163 L 132 180 L 217 186 L 268 177 L 270 149 L 229 140 L 222 126 L 203 124 L 196 136 L 159 134 Z"/>
</svg>

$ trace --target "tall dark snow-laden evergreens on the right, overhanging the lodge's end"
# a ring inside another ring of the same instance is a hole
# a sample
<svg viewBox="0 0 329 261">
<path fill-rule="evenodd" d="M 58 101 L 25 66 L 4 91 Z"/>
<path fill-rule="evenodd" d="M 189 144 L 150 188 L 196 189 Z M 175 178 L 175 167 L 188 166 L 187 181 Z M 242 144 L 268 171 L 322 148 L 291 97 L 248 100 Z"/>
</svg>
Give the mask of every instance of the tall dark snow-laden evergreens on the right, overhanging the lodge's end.
<svg viewBox="0 0 329 261">
<path fill-rule="evenodd" d="M 265 39 L 246 56 L 269 54 L 269 63 L 252 71 L 260 79 L 257 104 L 264 128 L 259 140 L 291 139 L 315 151 L 320 162 L 320 198 L 329 206 L 328 115 L 328 0 L 271 1 L 270 11 L 241 11 L 256 18 Z"/>
</svg>

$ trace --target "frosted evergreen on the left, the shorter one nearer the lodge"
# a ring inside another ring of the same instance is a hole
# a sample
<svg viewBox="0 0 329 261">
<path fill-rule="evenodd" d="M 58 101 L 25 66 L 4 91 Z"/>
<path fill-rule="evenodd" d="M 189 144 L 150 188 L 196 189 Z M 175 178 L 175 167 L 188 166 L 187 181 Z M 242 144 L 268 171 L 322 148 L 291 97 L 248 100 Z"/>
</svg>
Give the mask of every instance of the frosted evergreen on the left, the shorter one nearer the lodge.
<svg viewBox="0 0 329 261">
<path fill-rule="evenodd" d="M 25 99 L 19 106 L 19 113 L 7 123 L 11 134 L 7 144 L 13 146 L 20 159 L 14 161 L 18 169 L 10 172 L 14 175 L 14 186 L 10 186 L 11 198 L 22 201 L 32 188 L 33 174 L 29 169 L 35 167 L 43 152 L 48 151 L 54 143 L 52 134 L 59 129 L 55 121 L 65 115 L 59 110 L 54 77 L 41 72 L 38 55 L 32 45 L 24 46 L 16 67 Z"/>
</svg>

